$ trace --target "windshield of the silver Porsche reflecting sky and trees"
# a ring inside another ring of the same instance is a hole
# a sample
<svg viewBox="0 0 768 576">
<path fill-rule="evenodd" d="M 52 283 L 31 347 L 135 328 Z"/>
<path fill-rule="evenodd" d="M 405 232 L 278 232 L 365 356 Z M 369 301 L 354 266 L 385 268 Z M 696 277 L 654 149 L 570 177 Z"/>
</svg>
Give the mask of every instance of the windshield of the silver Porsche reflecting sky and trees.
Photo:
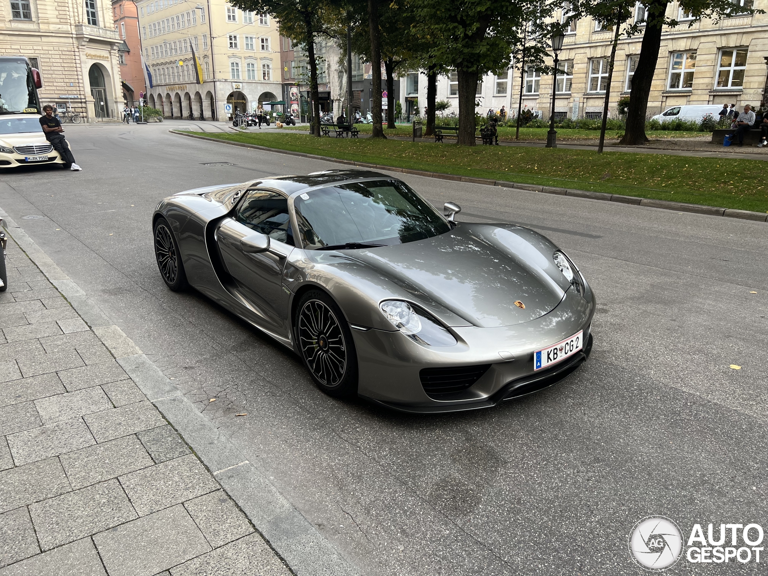
<svg viewBox="0 0 768 576">
<path fill-rule="evenodd" d="M 300 194 L 293 207 L 307 250 L 401 244 L 451 229 L 432 205 L 396 180 L 321 188 Z"/>
</svg>

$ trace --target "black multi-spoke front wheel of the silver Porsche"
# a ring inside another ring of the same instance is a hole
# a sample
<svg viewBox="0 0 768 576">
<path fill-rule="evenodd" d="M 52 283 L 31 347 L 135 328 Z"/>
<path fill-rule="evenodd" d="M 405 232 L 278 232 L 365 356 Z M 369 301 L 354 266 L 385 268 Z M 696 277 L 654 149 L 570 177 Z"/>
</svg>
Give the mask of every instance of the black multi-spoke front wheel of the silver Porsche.
<svg viewBox="0 0 768 576">
<path fill-rule="evenodd" d="M 296 308 L 296 343 L 316 386 L 329 396 L 357 394 L 357 352 L 339 306 L 321 290 L 310 290 Z"/>
</svg>

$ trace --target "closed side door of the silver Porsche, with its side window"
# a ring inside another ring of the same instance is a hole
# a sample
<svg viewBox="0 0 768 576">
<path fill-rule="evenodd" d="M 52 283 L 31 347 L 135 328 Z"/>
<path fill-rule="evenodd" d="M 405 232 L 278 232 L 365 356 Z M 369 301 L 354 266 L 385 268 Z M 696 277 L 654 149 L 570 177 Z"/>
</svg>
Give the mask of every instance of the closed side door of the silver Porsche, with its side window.
<svg viewBox="0 0 768 576">
<path fill-rule="evenodd" d="M 270 237 L 269 250 L 243 252 L 240 240 L 254 232 Z M 247 190 L 231 217 L 220 223 L 216 238 L 223 265 L 257 324 L 288 337 L 289 293 L 283 289 L 283 268 L 293 250 L 288 199 L 273 190 Z"/>
</svg>

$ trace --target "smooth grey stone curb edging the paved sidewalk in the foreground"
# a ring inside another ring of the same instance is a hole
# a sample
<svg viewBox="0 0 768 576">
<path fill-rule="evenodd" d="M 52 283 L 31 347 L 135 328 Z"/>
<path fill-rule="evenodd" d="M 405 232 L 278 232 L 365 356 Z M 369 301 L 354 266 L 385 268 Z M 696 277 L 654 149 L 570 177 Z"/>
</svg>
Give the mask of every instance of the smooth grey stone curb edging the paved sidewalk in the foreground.
<svg viewBox="0 0 768 576">
<path fill-rule="evenodd" d="M 266 475 L 197 411 L 194 404 L 0 208 L 8 233 L 91 326 L 128 376 L 210 469 L 267 544 L 297 576 L 357 576 L 357 571 L 277 491 Z"/>
</svg>

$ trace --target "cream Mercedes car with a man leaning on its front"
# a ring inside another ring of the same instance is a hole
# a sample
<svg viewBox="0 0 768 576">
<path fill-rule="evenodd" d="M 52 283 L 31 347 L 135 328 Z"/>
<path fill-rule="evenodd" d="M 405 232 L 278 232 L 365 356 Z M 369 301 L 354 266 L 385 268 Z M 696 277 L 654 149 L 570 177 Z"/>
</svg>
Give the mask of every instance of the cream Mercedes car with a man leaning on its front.
<svg viewBox="0 0 768 576">
<path fill-rule="evenodd" d="M 45 139 L 40 114 L 0 116 L 0 168 L 27 164 L 65 164 Z"/>
</svg>

